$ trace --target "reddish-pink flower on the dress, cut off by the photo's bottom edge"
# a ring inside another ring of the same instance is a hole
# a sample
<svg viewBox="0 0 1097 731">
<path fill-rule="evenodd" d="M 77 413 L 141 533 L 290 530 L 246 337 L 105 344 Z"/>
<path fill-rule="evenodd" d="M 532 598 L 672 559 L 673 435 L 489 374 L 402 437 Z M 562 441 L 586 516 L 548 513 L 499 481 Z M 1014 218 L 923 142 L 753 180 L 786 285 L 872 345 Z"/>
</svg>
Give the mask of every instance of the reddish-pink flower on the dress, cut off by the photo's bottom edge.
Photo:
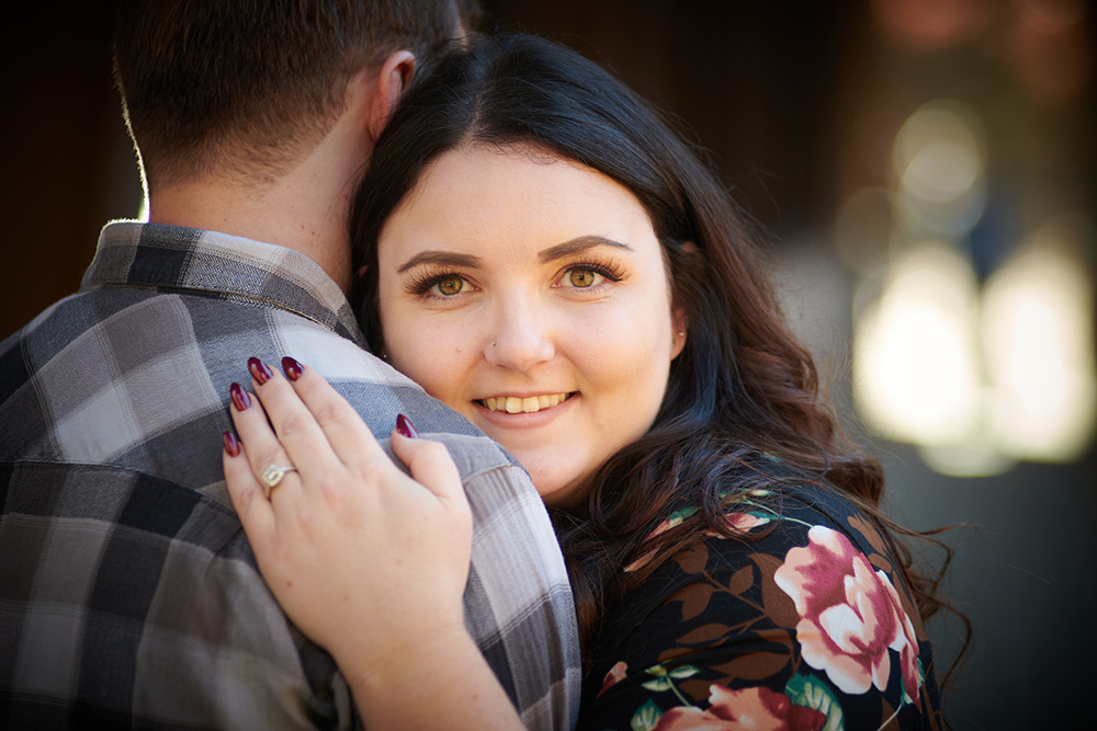
<svg viewBox="0 0 1097 731">
<path fill-rule="evenodd" d="M 814 708 L 793 706 L 789 696 L 769 688 L 732 690 L 709 686 L 709 708 L 671 708 L 655 731 L 817 731 L 826 716 Z"/>
</svg>

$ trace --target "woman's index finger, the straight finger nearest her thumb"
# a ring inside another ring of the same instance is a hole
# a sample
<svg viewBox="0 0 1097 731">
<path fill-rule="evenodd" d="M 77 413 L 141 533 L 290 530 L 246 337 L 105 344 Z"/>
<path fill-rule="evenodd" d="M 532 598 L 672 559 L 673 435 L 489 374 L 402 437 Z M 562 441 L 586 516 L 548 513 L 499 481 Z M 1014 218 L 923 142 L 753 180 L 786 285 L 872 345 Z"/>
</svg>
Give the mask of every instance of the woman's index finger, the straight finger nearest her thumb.
<svg viewBox="0 0 1097 731">
<path fill-rule="evenodd" d="M 283 362 L 289 366 L 287 374 L 299 374 L 292 381 L 293 388 L 343 465 L 352 466 L 360 465 L 363 460 L 388 459 L 362 416 L 324 376 L 293 358 L 286 357 Z"/>
</svg>

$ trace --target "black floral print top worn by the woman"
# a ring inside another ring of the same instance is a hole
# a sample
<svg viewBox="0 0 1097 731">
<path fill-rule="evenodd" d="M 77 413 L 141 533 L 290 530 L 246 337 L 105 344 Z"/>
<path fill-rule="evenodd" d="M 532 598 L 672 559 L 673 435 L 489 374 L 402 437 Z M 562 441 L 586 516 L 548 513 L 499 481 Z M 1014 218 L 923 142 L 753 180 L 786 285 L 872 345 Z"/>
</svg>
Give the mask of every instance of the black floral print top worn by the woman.
<svg viewBox="0 0 1097 731">
<path fill-rule="evenodd" d="M 760 537 L 710 534 L 607 608 L 578 728 L 942 728 L 929 640 L 859 509 L 833 489 L 782 486 L 751 491 L 727 521 Z"/>
</svg>

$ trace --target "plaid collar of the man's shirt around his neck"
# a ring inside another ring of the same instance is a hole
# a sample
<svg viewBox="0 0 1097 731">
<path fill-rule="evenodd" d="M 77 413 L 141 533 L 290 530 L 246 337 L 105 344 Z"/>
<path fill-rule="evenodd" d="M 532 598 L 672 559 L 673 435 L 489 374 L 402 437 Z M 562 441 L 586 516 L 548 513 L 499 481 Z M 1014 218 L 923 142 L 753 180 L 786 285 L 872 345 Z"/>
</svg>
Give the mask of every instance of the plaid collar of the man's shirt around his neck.
<svg viewBox="0 0 1097 731">
<path fill-rule="evenodd" d="M 99 237 L 82 288 L 154 287 L 250 299 L 308 318 L 365 347 L 346 295 L 308 256 L 237 236 L 113 221 Z"/>
</svg>

